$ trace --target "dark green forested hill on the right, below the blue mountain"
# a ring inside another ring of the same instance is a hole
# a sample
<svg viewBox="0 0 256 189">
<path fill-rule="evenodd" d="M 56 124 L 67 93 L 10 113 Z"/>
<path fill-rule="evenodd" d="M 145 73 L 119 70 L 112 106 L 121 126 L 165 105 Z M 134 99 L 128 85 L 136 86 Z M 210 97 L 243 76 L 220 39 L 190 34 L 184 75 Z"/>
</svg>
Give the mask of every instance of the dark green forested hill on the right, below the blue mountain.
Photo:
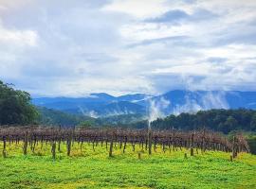
<svg viewBox="0 0 256 189">
<path fill-rule="evenodd" d="M 232 130 L 256 131 L 256 111 L 210 110 L 195 114 L 181 113 L 157 119 L 152 123 L 154 129 L 211 129 L 229 133 Z"/>
</svg>

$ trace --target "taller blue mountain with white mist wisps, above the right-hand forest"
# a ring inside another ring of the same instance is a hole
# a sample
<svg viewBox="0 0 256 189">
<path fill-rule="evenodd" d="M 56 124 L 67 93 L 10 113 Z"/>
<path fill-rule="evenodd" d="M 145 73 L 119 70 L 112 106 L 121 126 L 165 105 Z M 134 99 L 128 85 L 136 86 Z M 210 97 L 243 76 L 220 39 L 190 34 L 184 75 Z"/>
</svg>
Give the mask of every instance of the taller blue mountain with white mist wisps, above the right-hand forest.
<svg viewBox="0 0 256 189">
<path fill-rule="evenodd" d="M 159 111 L 166 115 L 210 109 L 245 108 L 256 110 L 256 92 L 175 90 L 138 103 L 150 107 L 152 101 L 160 109 Z"/>
</svg>

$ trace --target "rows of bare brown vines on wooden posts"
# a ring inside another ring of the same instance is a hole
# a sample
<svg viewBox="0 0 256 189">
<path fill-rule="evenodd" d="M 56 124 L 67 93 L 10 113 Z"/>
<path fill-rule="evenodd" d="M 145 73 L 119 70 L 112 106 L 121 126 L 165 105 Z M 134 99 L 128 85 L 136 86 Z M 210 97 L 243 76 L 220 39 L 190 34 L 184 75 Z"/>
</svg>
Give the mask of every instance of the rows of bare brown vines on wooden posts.
<svg viewBox="0 0 256 189">
<path fill-rule="evenodd" d="M 240 152 L 249 152 L 247 141 L 242 135 L 236 135 L 232 141 L 217 132 L 206 129 L 194 131 L 180 130 L 152 130 L 152 129 L 61 129 L 46 127 L 2 127 L 0 137 L 3 142 L 3 157 L 8 157 L 7 146 L 22 144 L 23 153 L 27 155 L 27 148 L 33 153 L 35 149 L 42 149 L 43 146 L 50 145 L 52 158 L 61 151 L 61 146 L 66 146 L 66 155 L 70 156 L 72 146 L 75 144 L 82 146 L 87 143 L 95 151 L 97 146 L 104 147 L 108 156 L 113 156 L 113 151 L 117 148 L 125 153 L 126 146 L 132 146 L 139 151 L 147 151 L 149 155 L 161 150 L 177 151 L 187 148 L 193 156 L 198 150 L 231 152 L 230 160 Z M 140 159 L 140 153 L 137 153 Z M 9 152 L 11 153 L 11 151 Z M 188 156 L 184 154 L 185 158 Z"/>
</svg>

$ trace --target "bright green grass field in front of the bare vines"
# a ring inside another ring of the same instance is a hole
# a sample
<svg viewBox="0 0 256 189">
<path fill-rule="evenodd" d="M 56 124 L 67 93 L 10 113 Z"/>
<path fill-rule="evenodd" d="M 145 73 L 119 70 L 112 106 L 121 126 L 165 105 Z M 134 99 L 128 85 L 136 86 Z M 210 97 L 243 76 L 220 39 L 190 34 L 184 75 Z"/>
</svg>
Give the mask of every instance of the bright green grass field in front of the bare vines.
<svg viewBox="0 0 256 189">
<path fill-rule="evenodd" d="M 54 161 L 49 145 L 27 156 L 21 145 L 8 146 L 8 158 L 0 157 L 0 188 L 256 188 L 256 156 L 245 153 L 230 162 L 229 153 L 199 151 L 185 159 L 186 149 L 163 153 L 160 147 L 140 160 L 131 146 L 125 154 L 117 146 L 113 158 L 105 146 L 93 151 L 86 144 L 81 151 L 75 144 L 71 157 L 62 150 Z"/>
</svg>

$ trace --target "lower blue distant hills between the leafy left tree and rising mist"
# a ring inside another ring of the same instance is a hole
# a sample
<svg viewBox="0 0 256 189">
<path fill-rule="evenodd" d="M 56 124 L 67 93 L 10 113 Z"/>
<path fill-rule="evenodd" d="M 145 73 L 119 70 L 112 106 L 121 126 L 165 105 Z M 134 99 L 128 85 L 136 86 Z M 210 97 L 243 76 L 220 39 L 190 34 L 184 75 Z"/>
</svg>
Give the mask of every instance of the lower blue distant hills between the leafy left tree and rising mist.
<svg viewBox="0 0 256 189">
<path fill-rule="evenodd" d="M 36 106 L 46 107 L 62 112 L 84 114 L 92 117 L 111 116 L 119 114 L 145 114 L 144 106 L 134 101 L 143 100 L 147 94 L 128 94 L 115 97 L 109 94 L 90 94 L 81 98 L 43 97 L 34 98 Z"/>
</svg>

